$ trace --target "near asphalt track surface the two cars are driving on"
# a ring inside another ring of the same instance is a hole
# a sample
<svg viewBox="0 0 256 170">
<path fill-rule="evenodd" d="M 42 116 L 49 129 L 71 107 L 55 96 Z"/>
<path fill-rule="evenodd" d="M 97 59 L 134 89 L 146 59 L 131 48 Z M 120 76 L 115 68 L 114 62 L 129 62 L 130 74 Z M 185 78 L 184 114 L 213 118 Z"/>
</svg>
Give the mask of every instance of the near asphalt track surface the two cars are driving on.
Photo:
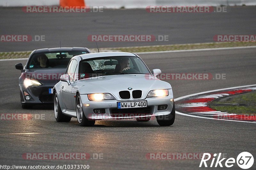
<svg viewBox="0 0 256 170">
<path fill-rule="evenodd" d="M 256 48 L 140 54 L 150 70 L 163 73 L 223 73 L 225 80 L 166 80 L 175 98 L 208 90 L 256 83 Z M 147 153 L 226 153 L 236 159 L 241 152 L 256 156 L 255 124 L 176 115 L 172 126 L 156 120 L 97 121 L 80 127 L 55 121 L 52 107 L 22 109 L 14 64 L 1 61 L 1 113 L 45 114 L 45 120 L 0 122 L 1 165 L 90 165 L 90 169 L 198 169 L 200 160 L 148 160 Z M 150 81 L 150 80 L 149 80 Z M 14 134 L 17 133 L 17 134 Z M 31 133 L 31 134 L 20 134 Z M 103 159 L 24 160 L 23 153 L 103 153 Z M 208 166 L 210 163 L 208 163 Z M 255 168 L 255 162 L 253 167 Z M 253 169 L 252 167 L 252 169 Z M 200 169 L 200 168 L 199 168 Z M 202 168 L 203 169 L 203 168 Z M 223 169 L 223 168 L 214 168 Z M 224 168 L 225 169 L 225 168 Z M 232 169 L 240 169 L 235 164 Z"/>
</svg>

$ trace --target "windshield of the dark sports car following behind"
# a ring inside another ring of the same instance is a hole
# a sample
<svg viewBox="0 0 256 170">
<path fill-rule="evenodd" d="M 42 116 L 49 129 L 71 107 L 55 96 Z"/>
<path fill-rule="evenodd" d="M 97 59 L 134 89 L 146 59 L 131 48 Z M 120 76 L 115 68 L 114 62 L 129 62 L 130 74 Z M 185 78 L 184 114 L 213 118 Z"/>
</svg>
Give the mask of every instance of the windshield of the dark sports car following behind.
<svg viewBox="0 0 256 170">
<path fill-rule="evenodd" d="M 27 69 L 67 68 L 68 63 L 73 56 L 86 53 L 86 51 L 74 50 L 36 53 L 29 59 Z"/>
</svg>

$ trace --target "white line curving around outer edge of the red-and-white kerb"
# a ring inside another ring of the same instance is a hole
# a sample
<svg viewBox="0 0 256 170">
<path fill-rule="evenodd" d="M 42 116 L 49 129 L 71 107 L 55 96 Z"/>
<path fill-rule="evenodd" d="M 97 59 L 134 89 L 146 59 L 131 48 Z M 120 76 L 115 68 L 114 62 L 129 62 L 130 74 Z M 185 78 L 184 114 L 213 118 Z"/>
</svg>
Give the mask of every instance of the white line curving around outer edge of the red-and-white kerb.
<svg viewBox="0 0 256 170">
<path fill-rule="evenodd" d="M 256 85 L 256 84 L 255 84 Z M 199 95 L 199 94 L 204 94 L 204 93 L 210 93 L 210 92 L 218 92 L 221 90 L 229 90 L 229 89 L 236 89 L 236 88 L 243 88 L 243 87 L 250 87 L 250 86 L 255 86 L 255 85 L 243 85 L 243 86 L 236 86 L 236 87 L 229 87 L 229 88 L 224 88 L 224 89 L 217 89 L 217 90 L 210 90 L 210 91 L 205 91 L 205 92 L 200 92 L 200 93 L 194 93 L 194 94 L 189 94 L 186 96 L 182 96 L 182 97 L 178 97 L 176 99 L 174 99 L 174 101 L 179 101 L 181 99 L 187 98 L 187 97 L 191 97 L 191 96 L 195 96 L 195 95 Z M 190 116 L 190 117 L 197 117 L 197 118 L 202 118 L 202 119 L 214 119 L 214 120 L 222 120 L 222 121 L 233 121 L 233 122 L 247 122 L 247 121 L 236 121 L 236 120 L 227 120 L 227 119 L 215 119 L 215 118 L 211 118 L 211 117 L 201 117 L 201 116 L 195 116 L 195 115 L 188 115 L 188 114 L 184 114 L 184 113 L 180 113 L 178 111 L 176 111 L 176 113 L 178 115 L 184 115 L 184 116 Z M 256 123 L 255 122 L 247 122 L 247 123 Z"/>
</svg>

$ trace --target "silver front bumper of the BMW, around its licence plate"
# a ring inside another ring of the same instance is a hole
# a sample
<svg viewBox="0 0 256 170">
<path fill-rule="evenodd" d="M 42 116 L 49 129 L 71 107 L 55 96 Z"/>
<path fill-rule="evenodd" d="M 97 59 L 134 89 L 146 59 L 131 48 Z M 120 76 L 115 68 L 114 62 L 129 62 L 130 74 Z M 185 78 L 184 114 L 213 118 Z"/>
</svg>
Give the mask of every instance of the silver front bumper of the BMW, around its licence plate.
<svg viewBox="0 0 256 170">
<path fill-rule="evenodd" d="M 171 90 L 171 89 L 170 89 Z M 170 94 L 170 93 L 169 93 Z M 172 93 L 171 93 L 172 94 Z M 141 99 L 147 100 L 148 107 L 141 108 L 125 108 L 117 109 L 117 100 L 101 100 L 101 101 L 90 101 L 88 100 L 87 94 L 80 94 L 83 102 L 84 115 L 87 119 L 101 120 L 101 119 L 130 119 L 137 117 L 151 117 L 160 115 L 169 115 L 172 112 L 173 107 L 173 96 L 166 97 L 153 97 Z M 127 100 L 131 101 L 131 100 Z M 139 100 L 133 100 L 139 101 Z M 90 106 L 85 106 L 89 104 Z M 158 105 L 167 105 L 166 110 L 157 110 Z M 95 114 L 93 109 L 105 109 L 105 114 Z"/>
</svg>

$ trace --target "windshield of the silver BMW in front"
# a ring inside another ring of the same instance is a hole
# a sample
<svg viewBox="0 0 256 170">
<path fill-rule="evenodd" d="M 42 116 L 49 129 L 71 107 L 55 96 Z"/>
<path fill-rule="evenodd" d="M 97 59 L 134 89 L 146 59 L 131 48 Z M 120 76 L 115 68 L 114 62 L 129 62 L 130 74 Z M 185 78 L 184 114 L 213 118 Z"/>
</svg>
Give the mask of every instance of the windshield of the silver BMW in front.
<svg viewBox="0 0 256 170">
<path fill-rule="evenodd" d="M 110 56 L 82 60 L 78 69 L 80 78 L 118 74 L 150 74 L 147 66 L 139 57 Z"/>
</svg>

